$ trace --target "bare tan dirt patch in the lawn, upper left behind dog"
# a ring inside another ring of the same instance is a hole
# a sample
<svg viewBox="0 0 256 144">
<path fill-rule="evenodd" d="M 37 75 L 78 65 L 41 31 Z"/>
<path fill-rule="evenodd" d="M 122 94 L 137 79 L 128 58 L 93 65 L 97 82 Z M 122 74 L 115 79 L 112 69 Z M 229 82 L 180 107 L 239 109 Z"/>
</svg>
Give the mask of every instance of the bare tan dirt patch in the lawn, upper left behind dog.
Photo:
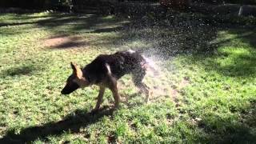
<svg viewBox="0 0 256 144">
<path fill-rule="evenodd" d="M 76 47 L 86 47 L 89 45 L 85 38 L 79 37 L 77 35 L 58 35 L 51 38 L 46 38 L 43 40 L 43 45 L 55 49 L 68 49 Z"/>
</svg>

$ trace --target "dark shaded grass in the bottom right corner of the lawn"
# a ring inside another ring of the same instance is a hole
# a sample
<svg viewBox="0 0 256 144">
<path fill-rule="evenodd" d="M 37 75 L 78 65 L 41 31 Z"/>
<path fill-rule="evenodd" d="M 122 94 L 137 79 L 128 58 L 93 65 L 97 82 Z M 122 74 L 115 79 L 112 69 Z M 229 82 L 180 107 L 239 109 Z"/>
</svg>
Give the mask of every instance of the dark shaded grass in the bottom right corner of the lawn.
<svg viewBox="0 0 256 144">
<path fill-rule="evenodd" d="M 210 143 L 254 143 L 256 141 L 256 102 L 251 100 L 250 106 L 239 113 L 238 119 L 221 118 L 209 115 L 198 123 L 206 133 Z"/>
</svg>

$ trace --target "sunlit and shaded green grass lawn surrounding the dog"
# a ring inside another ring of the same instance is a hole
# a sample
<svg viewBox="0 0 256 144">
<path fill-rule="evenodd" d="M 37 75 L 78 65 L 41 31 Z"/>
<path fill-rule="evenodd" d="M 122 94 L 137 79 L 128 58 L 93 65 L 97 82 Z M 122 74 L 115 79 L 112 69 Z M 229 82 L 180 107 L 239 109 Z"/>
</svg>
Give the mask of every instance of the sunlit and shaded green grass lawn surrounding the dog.
<svg viewBox="0 0 256 144">
<path fill-rule="evenodd" d="M 181 18 L 181 19 L 177 19 Z M 145 82 L 149 103 L 130 75 L 118 82 L 125 102 L 98 87 L 60 94 L 70 62 L 142 50 L 158 66 Z M 256 29 L 204 22 L 193 15 L 154 22 L 90 14 L 0 15 L 0 143 L 254 143 Z"/>
</svg>

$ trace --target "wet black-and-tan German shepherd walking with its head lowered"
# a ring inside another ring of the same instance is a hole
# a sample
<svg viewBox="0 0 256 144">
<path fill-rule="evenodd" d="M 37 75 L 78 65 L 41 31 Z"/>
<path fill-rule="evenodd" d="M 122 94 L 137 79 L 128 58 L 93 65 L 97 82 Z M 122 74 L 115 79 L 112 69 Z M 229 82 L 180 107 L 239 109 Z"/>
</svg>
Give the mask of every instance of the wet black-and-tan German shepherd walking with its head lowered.
<svg viewBox="0 0 256 144">
<path fill-rule="evenodd" d="M 125 74 L 132 74 L 134 85 L 138 86 L 139 90 L 146 94 L 147 102 L 149 99 L 149 87 L 142 82 L 146 74 L 147 64 L 146 58 L 134 50 L 118 51 L 115 54 L 101 54 L 83 69 L 71 62 L 73 74 L 67 78 L 62 94 L 70 94 L 78 88 L 98 85 L 98 102 L 94 110 L 99 109 L 106 88 L 112 91 L 114 107 L 117 108 L 120 102 L 117 81 Z"/>
</svg>

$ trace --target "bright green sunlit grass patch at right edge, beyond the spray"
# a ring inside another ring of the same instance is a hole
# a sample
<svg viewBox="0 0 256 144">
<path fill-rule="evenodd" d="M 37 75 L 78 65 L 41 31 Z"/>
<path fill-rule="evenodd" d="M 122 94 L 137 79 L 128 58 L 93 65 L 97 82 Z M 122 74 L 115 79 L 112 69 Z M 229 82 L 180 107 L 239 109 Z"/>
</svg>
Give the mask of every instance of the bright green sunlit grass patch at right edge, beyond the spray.
<svg viewBox="0 0 256 144">
<path fill-rule="evenodd" d="M 223 30 L 223 29 L 222 29 Z M 256 76 L 256 33 L 248 29 L 224 29 L 232 38 L 214 42 L 214 54 L 194 54 L 191 62 L 228 77 L 254 78 Z"/>
</svg>

